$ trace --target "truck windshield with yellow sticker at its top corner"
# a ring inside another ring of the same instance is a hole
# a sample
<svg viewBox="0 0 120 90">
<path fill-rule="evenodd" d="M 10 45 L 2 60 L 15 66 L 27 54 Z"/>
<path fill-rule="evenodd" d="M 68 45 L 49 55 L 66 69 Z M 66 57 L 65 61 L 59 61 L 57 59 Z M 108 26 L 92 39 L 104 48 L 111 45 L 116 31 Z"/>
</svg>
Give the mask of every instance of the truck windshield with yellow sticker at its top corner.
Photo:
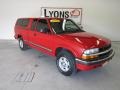
<svg viewBox="0 0 120 90">
<path fill-rule="evenodd" d="M 50 25 L 56 34 L 84 32 L 71 19 L 51 19 Z"/>
</svg>

